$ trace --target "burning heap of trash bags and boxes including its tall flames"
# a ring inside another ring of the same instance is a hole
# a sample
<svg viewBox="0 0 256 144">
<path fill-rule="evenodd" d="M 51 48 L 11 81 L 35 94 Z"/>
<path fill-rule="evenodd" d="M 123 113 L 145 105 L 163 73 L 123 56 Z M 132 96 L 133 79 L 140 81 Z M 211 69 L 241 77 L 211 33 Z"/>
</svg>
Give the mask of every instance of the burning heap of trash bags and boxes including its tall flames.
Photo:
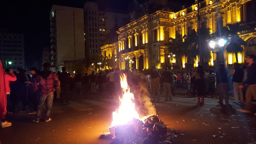
<svg viewBox="0 0 256 144">
<path fill-rule="evenodd" d="M 141 119 L 135 110 L 134 94 L 130 92 L 125 75 L 121 76 L 121 87 L 120 106 L 113 112 L 111 127 L 104 134 L 110 134 L 112 139 L 124 144 L 171 144 L 178 131 L 167 128 L 154 113 Z"/>
</svg>

